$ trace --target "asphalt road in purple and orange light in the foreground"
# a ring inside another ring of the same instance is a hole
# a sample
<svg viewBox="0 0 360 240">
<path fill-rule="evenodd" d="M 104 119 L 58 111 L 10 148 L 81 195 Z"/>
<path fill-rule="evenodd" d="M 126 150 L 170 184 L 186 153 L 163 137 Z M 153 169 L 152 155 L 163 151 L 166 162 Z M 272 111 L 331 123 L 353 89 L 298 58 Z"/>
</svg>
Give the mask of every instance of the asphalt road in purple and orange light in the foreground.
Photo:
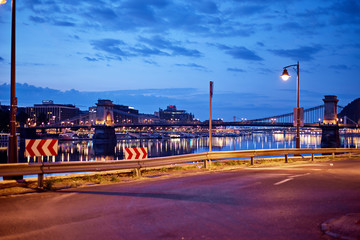
<svg viewBox="0 0 360 240">
<path fill-rule="evenodd" d="M 360 160 L 0 198 L 0 239 L 330 239 L 360 212 Z"/>
</svg>

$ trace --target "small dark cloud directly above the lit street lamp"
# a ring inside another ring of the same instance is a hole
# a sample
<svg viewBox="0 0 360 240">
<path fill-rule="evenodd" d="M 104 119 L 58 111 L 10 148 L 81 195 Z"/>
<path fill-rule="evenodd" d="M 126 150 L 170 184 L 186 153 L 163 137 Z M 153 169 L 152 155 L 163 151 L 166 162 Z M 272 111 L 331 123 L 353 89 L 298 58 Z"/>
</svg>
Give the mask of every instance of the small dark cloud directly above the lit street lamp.
<svg viewBox="0 0 360 240">
<path fill-rule="evenodd" d="M 322 50 L 321 46 L 299 47 L 295 49 L 270 49 L 269 52 L 280 56 L 291 58 L 295 61 L 311 61 L 314 55 Z"/>
</svg>

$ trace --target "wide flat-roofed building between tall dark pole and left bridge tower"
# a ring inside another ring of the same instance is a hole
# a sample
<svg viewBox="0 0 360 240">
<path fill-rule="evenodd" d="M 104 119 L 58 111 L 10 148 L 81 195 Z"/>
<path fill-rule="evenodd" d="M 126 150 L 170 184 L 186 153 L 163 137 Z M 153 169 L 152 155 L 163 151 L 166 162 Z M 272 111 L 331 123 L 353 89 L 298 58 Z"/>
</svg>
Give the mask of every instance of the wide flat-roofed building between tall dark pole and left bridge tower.
<svg viewBox="0 0 360 240">
<path fill-rule="evenodd" d="M 55 104 L 52 100 L 45 100 L 42 104 L 26 107 L 26 113 L 32 124 L 41 125 L 66 121 L 78 116 L 80 110 L 72 104 Z"/>
</svg>

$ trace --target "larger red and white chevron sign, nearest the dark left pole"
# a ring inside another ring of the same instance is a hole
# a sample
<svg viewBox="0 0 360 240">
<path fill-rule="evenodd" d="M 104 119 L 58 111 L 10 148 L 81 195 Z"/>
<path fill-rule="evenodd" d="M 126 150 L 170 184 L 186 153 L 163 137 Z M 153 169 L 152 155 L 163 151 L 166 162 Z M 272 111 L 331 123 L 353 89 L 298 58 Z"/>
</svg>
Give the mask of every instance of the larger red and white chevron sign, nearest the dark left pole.
<svg viewBox="0 0 360 240">
<path fill-rule="evenodd" d="M 25 157 L 56 156 L 57 139 L 26 139 Z"/>
</svg>

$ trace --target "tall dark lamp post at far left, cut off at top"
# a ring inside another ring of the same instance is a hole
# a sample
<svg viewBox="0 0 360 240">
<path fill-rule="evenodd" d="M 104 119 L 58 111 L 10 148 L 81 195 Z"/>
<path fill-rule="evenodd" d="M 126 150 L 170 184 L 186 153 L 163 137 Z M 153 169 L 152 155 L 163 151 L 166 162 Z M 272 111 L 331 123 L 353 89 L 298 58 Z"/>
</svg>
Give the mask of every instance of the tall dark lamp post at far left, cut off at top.
<svg viewBox="0 0 360 240">
<path fill-rule="evenodd" d="M 0 0 L 5 4 L 6 0 Z M 15 0 L 11 0 L 11 94 L 10 94 L 10 136 L 8 147 L 8 163 L 18 162 L 17 136 L 16 136 L 16 111 L 17 98 L 15 95 Z"/>
</svg>

